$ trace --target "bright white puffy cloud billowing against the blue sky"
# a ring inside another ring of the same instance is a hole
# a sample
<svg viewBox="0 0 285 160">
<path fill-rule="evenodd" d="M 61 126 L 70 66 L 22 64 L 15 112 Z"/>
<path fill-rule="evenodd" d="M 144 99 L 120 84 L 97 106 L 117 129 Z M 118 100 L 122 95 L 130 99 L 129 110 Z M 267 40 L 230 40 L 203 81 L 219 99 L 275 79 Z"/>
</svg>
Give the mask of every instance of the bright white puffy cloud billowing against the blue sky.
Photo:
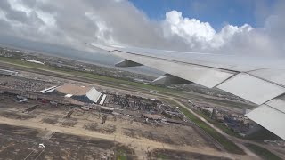
<svg viewBox="0 0 285 160">
<path fill-rule="evenodd" d="M 171 11 L 166 13 L 164 33 L 169 36 L 180 36 L 191 49 L 206 50 L 218 49 L 231 41 L 233 36 L 250 32 L 251 26 L 241 27 L 226 25 L 220 32 L 216 32 L 208 22 L 196 19 L 183 18 L 182 12 Z"/>
</svg>

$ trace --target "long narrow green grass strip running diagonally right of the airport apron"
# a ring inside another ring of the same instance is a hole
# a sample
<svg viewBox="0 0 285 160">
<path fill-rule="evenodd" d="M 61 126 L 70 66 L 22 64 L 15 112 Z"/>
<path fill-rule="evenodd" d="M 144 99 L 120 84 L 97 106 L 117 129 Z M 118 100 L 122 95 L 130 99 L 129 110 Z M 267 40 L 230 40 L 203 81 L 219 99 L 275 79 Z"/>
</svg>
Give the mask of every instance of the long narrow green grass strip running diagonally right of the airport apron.
<svg viewBox="0 0 285 160">
<path fill-rule="evenodd" d="M 216 141 L 218 141 L 224 147 L 225 150 L 233 154 L 240 154 L 240 155 L 245 154 L 244 151 L 241 148 L 239 148 L 237 145 L 235 145 L 231 140 L 228 140 L 227 138 L 224 137 L 224 135 L 220 134 L 219 132 L 216 132 L 215 129 L 213 129 L 208 124 L 201 121 L 197 116 L 191 114 L 189 110 L 183 108 L 173 100 L 167 100 L 167 102 L 169 102 L 174 106 L 180 107 L 180 110 L 183 112 L 185 116 L 187 116 L 193 123 L 197 124 L 199 128 L 207 132 L 211 137 L 213 137 Z"/>
</svg>

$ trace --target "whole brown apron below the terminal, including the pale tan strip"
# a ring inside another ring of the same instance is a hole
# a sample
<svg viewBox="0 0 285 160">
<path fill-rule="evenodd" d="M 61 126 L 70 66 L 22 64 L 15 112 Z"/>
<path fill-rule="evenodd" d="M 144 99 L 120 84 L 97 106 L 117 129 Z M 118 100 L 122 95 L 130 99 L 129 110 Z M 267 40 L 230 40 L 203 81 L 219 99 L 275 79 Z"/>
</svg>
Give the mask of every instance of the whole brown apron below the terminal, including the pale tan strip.
<svg viewBox="0 0 285 160">
<path fill-rule="evenodd" d="M 15 97 L 2 98 L 0 134 L 4 136 L 0 139 L 3 144 L 0 157 L 5 159 L 24 159 L 27 154 L 30 154 L 27 159 L 104 159 L 113 156 L 151 159 L 148 153 L 156 148 L 228 156 L 191 126 L 146 124 L 143 119 L 137 120 L 131 116 L 112 116 L 67 106 L 55 107 L 36 100 L 17 103 Z M 39 107 L 35 110 L 23 113 L 36 104 Z M 73 113 L 66 118 L 70 110 Z M 102 124 L 103 116 L 107 116 L 107 119 Z M 45 142 L 45 149 L 38 148 L 42 142 Z"/>
</svg>

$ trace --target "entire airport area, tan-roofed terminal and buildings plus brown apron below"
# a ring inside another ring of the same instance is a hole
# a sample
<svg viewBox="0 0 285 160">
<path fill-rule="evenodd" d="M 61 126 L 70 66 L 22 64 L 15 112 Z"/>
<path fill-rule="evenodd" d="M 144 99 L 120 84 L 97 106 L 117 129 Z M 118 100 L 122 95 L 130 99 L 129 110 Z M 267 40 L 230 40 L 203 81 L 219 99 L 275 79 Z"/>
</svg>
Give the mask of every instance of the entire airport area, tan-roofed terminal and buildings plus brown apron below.
<svg viewBox="0 0 285 160">
<path fill-rule="evenodd" d="M 179 109 L 153 95 L 19 74 L 0 75 L 0 157 L 151 159 L 156 148 L 192 156 L 204 149 L 205 158 L 222 153 Z"/>
</svg>

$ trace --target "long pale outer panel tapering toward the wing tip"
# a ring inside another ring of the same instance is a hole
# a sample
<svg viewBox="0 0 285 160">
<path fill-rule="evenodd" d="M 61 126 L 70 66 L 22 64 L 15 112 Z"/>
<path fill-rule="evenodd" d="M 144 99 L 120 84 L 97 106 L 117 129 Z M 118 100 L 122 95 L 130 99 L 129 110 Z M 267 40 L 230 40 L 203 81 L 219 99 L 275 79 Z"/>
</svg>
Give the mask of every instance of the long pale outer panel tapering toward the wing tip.
<svg viewBox="0 0 285 160">
<path fill-rule="evenodd" d="M 223 83 L 224 80 L 235 74 L 221 69 L 207 68 L 174 60 L 163 60 L 128 52 L 119 52 L 115 50 L 112 53 L 127 60 L 135 61 L 151 68 L 156 68 L 170 75 L 178 76 L 209 88 Z"/>
</svg>

